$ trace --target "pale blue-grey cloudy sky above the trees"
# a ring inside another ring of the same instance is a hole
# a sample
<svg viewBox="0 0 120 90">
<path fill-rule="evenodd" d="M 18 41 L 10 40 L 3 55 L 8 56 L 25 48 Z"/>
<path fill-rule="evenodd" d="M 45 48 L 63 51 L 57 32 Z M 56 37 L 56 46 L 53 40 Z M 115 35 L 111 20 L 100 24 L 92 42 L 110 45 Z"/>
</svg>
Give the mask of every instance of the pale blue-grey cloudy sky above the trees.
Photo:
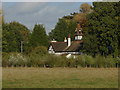
<svg viewBox="0 0 120 90">
<path fill-rule="evenodd" d="M 79 12 L 82 3 L 85 2 L 4 2 L 2 6 L 6 22 L 18 21 L 31 30 L 35 24 L 44 24 L 48 33 L 58 18 Z"/>
</svg>

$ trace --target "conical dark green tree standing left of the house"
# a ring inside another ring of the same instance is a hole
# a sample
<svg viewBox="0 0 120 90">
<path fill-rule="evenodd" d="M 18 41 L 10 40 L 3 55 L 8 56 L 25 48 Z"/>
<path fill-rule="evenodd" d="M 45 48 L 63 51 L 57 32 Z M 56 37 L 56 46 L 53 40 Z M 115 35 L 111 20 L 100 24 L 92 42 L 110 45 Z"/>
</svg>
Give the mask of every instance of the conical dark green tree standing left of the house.
<svg viewBox="0 0 120 90">
<path fill-rule="evenodd" d="M 31 47 L 48 46 L 48 36 L 42 24 L 35 24 L 33 32 L 30 36 L 29 44 Z"/>
</svg>

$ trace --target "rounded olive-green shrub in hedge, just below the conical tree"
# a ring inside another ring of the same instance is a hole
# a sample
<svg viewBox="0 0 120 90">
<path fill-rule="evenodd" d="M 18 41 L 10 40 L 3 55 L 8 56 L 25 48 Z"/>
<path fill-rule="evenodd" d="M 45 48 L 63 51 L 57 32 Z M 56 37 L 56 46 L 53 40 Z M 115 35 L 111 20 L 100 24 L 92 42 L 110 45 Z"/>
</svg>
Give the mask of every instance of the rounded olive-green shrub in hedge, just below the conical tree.
<svg viewBox="0 0 120 90">
<path fill-rule="evenodd" d="M 35 47 L 32 52 L 28 54 L 28 67 L 43 67 L 45 64 L 44 58 L 48 55 L 47 48 L 44 46 Z"/>
</svg>

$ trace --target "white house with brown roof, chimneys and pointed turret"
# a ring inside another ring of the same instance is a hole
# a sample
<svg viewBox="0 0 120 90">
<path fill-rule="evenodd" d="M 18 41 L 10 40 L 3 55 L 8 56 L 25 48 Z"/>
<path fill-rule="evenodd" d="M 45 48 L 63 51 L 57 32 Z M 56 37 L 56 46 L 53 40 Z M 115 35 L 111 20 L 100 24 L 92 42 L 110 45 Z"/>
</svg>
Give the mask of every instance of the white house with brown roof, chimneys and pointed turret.
<svg viewBox="0 0 120 90">
<path fill-rule="evenodd" d="M 71 41 L 70 35 L 68 35 L 68 38 L 65 38 L 63 42 L 57 42 L 53 40 L 50 43 L 48 52 L 55 55 L 79 55 L 82 53 L 80 51 L 83 46 L 82 37 L 82 28 L 80 23 L 77 23 L 77 28 L 74 34 L 74 41 Z"/>
</svg>

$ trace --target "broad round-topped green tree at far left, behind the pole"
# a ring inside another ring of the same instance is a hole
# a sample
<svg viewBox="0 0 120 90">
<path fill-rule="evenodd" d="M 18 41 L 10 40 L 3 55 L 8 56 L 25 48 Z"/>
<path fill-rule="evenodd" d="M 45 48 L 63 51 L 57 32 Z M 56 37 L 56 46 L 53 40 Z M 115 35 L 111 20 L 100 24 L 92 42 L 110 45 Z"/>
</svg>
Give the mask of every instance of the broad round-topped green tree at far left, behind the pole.
<svg viewBox="0 0 120 90">
<path fill-rule="evenodd" d="M 2 50 L 3 52 L 20 52 L 21 41 L 28 41 L 29 30 L 19 22 L 3 24 Z M 23 33 L 24 32 L 24 33 Z"/>
</svg>

